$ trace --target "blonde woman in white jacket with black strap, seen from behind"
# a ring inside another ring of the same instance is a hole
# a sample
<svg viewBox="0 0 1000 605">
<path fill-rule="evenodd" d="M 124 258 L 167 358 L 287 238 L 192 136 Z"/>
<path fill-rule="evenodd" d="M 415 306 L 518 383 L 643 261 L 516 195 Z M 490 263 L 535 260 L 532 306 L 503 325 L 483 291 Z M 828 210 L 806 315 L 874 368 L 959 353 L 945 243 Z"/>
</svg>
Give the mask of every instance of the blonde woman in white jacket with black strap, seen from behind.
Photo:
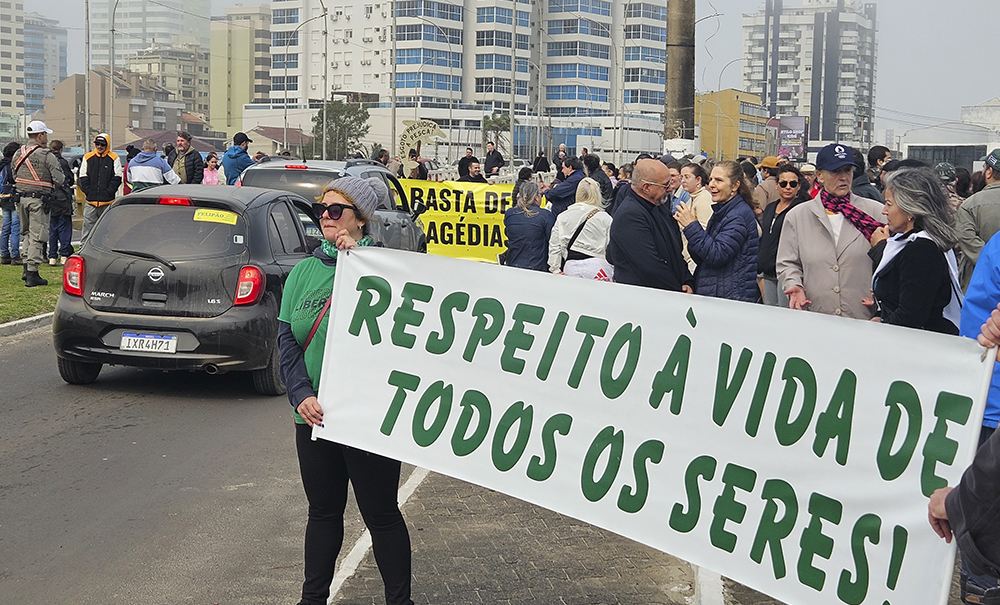
<svg viewBox="0 0 1000 605">
<path fill-rule="evenodd" d="M 587 177 L 576 189 L 576 202 L 556 217 L 549 238 L 549 271 L 611 281 L 605 258 L 611 240 L 611 215 L 604 211 L 601 186 Z"/>
</svg>

